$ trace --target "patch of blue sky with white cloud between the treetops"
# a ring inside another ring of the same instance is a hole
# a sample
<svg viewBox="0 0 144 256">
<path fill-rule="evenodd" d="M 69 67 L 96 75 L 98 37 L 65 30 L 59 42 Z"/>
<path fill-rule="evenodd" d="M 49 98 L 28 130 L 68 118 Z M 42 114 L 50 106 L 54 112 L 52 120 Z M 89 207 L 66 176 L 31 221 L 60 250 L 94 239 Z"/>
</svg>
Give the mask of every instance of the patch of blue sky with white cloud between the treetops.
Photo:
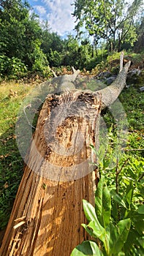
<svg viewBox="0 0 144 256">
<path fill-rule="evenodd" d="M 73 34 L 75 18 L 72 17 L 74 0 L 28 0 L 34 12 L 42 20 L 48 20 L 51 31 L 58 32 L 61 36 Z"/>
</svg>

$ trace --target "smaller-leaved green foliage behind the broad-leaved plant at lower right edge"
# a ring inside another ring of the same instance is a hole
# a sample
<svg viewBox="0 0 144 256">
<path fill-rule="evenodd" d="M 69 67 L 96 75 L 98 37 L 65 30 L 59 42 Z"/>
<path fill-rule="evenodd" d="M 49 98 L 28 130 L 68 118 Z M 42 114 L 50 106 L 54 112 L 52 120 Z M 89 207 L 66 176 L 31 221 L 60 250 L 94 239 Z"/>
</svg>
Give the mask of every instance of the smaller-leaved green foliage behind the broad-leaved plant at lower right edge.
<svg viewBox="0 0 144 256">
<path fill-rule="evenodd" d="M 124 154 L 123 158 L 114 159 L 116 166 L 110 167 L 110 154 L 107 152 L 100 164 L 105 173 L 107 186 L 113 199 L 112 216 L 119 219 L 130 218 L 132 225 L 128 240 L 124 245 L 125 255 L 143 255 L 143 158 Z"/>
</svg>

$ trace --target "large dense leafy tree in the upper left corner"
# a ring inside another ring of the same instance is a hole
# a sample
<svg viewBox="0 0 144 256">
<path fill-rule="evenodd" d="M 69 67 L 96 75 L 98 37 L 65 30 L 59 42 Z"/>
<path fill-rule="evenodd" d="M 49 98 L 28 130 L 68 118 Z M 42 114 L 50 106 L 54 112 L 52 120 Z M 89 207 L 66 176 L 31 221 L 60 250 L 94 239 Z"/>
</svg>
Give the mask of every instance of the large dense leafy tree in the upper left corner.
<svg viewBox="0 0 144 256">
<path fill-rule="evenodd" d="M 40 48 L 42 29 L 37 16 L 29 14 L 30 10 L 26 1 L 0 2 L 0 55 L 6 56 L 8 62 L 12 58 L 19 59 L 31 70 L 47 64 L 47 61 Z"/>
</svg>

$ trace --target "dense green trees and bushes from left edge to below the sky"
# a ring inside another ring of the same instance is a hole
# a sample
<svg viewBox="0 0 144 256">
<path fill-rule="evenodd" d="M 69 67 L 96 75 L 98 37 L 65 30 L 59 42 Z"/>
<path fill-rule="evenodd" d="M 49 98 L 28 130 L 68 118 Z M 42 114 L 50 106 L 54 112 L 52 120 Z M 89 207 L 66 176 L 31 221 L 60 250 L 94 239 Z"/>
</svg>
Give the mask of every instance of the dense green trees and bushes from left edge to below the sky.
<svg viewBox="0 0 144 256">
<path fill-rule="evenodd" d="M 90 42 L 83 40 L 80 45 L 71 35 L 61 39 L 50 32 L 47 21 L 41 24 L 37 15 L 30 15 L 30 10 L 29 4 L 21 0 L 1 1 L 1 79 L 18 78 L 24 75 L 23 71 L 25 75 L 30 71 L 47 78 L 48 64 L 50 67 L 74 66 L 79 69 L 94 67 L 94 50 Z M 15 63 L 18 70 L 14 72 L 12 60 L 18 61 L 18 67 Z M 7 68 L 9 64 L 10 70 Z"/>
</svg>

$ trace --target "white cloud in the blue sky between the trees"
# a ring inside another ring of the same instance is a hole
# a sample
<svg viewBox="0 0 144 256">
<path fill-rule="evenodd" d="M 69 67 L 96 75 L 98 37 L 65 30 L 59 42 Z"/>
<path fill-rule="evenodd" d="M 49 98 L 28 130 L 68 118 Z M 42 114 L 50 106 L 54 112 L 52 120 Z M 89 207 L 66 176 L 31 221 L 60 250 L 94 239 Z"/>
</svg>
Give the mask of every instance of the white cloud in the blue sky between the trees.
<svg viewBox="0 0 144 256">
<path fill-rule="evenodd" d="M 64 35 L 72 32 L 75 28 L 75 18 L 72 17 L 74 7 L 72 0 L 43 0 L 43 4 L 48 7 L 48 23 L 53 31 Z"/>
</svg>

